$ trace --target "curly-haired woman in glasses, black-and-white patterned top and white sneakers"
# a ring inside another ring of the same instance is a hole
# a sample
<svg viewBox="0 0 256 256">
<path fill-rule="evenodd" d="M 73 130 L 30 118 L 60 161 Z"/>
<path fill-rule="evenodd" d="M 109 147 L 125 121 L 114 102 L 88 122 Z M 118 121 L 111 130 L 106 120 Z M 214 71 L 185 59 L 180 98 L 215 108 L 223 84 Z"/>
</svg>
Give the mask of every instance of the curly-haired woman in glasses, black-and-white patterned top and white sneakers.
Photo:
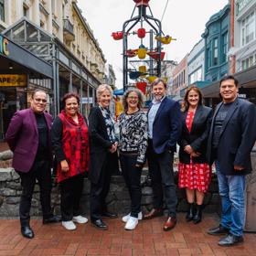
<svg viewBox="0 0 256 256">
<path fill-rule="evenodd" d="M 141 174 L 147 147 L 147 117 L 141 111 L 143 94 L 137 89 L 130 89 L 123 95 L 124 112 L 119 116 L 120 163 L 123 178 L 131 197 L 131 212 L 123 217 L 124 229 L 135 229 L 141 212 Z"/>
</svg>

